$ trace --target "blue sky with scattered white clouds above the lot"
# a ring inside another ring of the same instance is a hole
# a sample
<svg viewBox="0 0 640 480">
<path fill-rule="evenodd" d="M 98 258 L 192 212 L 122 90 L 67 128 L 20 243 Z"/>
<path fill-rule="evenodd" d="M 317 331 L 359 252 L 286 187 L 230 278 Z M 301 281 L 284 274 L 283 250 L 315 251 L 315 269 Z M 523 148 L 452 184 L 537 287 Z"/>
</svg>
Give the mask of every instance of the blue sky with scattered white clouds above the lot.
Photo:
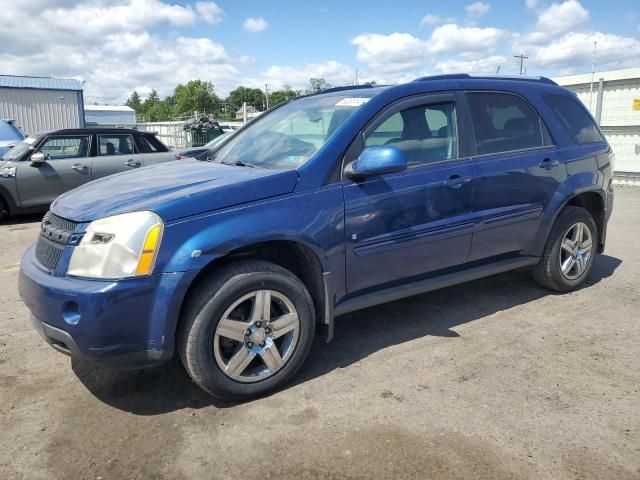
<svg viewBox="0 0 640 480">
<path fill-rule="evenodd" d="M 307 88 L 467 72 L 640 67 L 638 0 L 0 0 L 0 74 L 85 82 L 88 103 L 192 79 Z"/>
</svg>

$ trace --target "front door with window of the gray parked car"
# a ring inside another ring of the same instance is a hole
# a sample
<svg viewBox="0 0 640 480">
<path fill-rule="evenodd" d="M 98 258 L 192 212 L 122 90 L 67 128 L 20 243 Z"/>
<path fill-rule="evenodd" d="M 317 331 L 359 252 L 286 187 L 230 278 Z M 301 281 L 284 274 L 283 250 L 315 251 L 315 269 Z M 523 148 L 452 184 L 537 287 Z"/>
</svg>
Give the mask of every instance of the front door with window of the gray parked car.
<svg viewBox="0 0 640 480">
<path fill-rule="evenodd" d="M 90 135 L 47 137 L 37 148 L 45 163 L 20 162 L 16 172 L 22 207 L 49 205 L 56 197 L 91 180 Z"/>
</svg>

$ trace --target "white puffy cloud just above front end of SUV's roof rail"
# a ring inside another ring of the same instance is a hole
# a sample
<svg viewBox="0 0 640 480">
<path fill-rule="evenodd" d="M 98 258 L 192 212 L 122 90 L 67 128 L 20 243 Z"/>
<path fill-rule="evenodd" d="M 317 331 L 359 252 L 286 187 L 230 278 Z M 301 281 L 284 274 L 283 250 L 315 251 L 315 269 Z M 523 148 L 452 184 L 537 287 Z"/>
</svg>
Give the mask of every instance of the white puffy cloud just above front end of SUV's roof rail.
<svg viewBox="0 0 640 480">
<path fill-rule="evenodd" d="M 449 23 L 433 31 L 429 49 L 433 53 L 491 52 L 504 35 L 504 30 L 498 28 L 461 27 Z"/>
</svg>

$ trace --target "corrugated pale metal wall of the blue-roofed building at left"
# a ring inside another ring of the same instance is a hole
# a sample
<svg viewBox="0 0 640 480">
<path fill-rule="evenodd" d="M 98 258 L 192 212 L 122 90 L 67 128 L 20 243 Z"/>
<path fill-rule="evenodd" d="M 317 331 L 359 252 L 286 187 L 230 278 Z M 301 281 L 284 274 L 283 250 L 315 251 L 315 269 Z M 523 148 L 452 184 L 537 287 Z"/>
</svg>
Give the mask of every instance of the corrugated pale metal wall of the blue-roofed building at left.
<svg viewBox="0 0 640 480">
<path fill-rule="evenodd" d="M 0 118 L 15 120 L 25 134 L 80 128 L 81 92 L 0 88 Z"/>
</svg>

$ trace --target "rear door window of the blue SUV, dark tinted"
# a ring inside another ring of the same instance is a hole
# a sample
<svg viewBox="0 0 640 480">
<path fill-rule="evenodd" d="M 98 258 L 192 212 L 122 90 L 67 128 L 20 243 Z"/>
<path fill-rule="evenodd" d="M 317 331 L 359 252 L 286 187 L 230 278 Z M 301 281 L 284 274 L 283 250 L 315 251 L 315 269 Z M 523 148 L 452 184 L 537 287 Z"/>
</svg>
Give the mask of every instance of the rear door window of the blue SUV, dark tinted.
<svg viewBox="0 0 640 480">
<path fill-rule="evenodd" d="M 468 93 L 478 155 L 544 145 L 538 114 L 522 98 L 506 93 Z"/>
</svg>

